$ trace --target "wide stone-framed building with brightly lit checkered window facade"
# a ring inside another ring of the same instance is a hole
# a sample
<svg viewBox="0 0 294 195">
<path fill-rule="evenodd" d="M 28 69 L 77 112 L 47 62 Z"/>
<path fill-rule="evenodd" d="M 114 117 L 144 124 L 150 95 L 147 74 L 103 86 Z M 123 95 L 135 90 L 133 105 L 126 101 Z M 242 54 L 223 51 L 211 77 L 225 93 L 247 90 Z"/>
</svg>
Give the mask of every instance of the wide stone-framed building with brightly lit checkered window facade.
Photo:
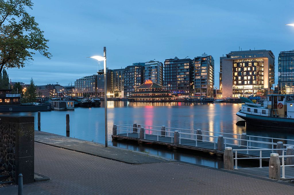
<svg viewBox="0 0 294 195">
<path fill-rule="evenodd" d="M 232 51 L 221 58 L 225 97 L 263 96 L 275 83 L 275 56 L 271 50 Z"/>
</svg>

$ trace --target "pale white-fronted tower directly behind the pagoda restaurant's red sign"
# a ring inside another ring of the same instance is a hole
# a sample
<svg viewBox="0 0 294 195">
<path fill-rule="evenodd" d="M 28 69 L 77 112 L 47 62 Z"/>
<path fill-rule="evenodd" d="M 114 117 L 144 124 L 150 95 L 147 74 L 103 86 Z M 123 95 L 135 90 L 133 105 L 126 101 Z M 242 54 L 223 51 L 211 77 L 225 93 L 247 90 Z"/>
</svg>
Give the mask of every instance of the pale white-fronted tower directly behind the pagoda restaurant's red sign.
<svg viewBox="0 0 294 195">
<path fill-rule="evenodd" d="M 144 79 L 151 80 L 153 83 L 163 84 L 163 64 L 158 61 L 145 63 Z"/>
</svg>

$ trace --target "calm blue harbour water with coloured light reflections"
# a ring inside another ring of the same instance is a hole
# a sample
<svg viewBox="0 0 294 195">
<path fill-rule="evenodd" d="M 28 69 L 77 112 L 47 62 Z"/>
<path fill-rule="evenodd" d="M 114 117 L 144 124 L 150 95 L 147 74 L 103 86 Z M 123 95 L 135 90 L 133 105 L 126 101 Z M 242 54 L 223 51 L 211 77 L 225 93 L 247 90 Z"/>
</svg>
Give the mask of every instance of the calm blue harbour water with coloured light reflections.
<svg viewBox="0 0 294 195">
<path fill-rule="evenodd" d="M 70 137 L 98 143 L 104 143 L 104 102 L 101 107 L 75 108 L 74 111 L 41 112 L 41 131 L 66 136 L 66 114 L 70 115 Z M 236 126 L 242 120 L 236 116 L 241 104 L 232 103 L 142 103 L 108 101 L 108 144 L 131 150 L 147 152 L 185 162 L 222 168 L 222 160 L 216 156 L 201 152 L 173 151 L 166 148 L 154 148 L 147 144 L 138 146 L 135 143 L 112 142 L 113 124 L 144 124 L 215 131 L 222 133 L 246 133 L 243 126 Z M 34 116 L 37 129 L 37 112 L 2 113 L 8 115 Z M 250 130 L 250 135 L 275 136 L 294 139 L 289 133 L 264 131 L 256 133 Z M 239 162 L 238 162 L 239 165 Z M 241 165 L 241 164 L 240 164 Z"/>
</svg>

